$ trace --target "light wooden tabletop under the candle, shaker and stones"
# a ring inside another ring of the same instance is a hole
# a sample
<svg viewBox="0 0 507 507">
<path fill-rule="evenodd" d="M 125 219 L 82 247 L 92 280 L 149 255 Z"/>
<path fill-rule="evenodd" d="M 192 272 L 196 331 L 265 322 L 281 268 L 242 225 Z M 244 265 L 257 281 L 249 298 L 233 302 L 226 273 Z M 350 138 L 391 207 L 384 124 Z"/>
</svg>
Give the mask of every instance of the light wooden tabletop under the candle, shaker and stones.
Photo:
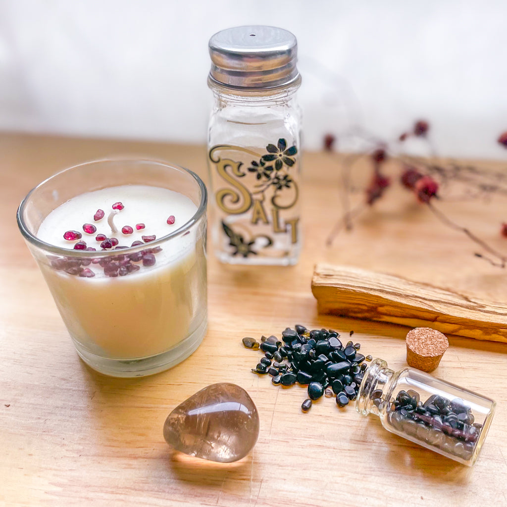
<svg viewBox="0 0 507 507">
<path fill-rule="evenodd" d="M 222 266 L 209 259 L 209 329 L 177 367 L 147 378 L 108 378 L 86 367 L 18 232 L 24 195 L 52 173 L 107 155 L 146 155 L 193 169 L 207 181 L 204 147 L 0 134 L 0 504 L 71 505 L 507 505 L 507 345 L 450 337 L 434 375 L 497 401 L 473 468 L 384 430 L 353 406 L 281 389 L 250 372 L 260 356 L 243 336 L 287 326 L 354 330 L 361 352 L 405 366 L 406 328 L 317 315 L 310 291 L 318 261 L 348 264 L 507 301 L 507 272 L 473 257 L 463 235 L 436 221 L 411 195 L 392 190 L 332 247 L 341 214 L 338 170 L 325 154 L 304 158 L 300 263 L 290 268 Z M 507 252 L 498 234 L 507 199 L 442 209 Z M 487 215 L 487 219 L 485 216 Z M 261 433 L 233 464 L 174 454 L 162 437 L 167 414 L 220 381 L 244 387 Z"/>
</svg>

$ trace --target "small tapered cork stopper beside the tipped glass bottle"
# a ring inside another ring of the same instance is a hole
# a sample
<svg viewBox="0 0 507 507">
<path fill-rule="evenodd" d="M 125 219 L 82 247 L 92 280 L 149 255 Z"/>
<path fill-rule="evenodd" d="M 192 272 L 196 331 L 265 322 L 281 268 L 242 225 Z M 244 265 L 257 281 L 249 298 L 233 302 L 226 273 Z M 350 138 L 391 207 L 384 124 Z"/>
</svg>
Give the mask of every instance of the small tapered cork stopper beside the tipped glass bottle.
<svg viewBox="0 0 507 507">
<path fill-rule="evenodd" d="M 407 363 L 423 372 L 432 372 L 449 347 L 444 334 L 431 328 L 415 328 L 407 333 Z"/>
</svg>

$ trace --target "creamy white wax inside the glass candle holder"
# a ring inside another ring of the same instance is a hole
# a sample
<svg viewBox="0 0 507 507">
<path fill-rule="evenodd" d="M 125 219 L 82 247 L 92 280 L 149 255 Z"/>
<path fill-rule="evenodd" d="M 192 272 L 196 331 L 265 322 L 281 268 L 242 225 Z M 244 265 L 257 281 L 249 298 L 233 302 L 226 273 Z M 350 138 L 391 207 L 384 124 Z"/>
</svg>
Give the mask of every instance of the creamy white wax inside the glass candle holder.
<svg viewBox="0 0 507 507">
<path fill-rule="evenodd" d="M 112 205 L 116 202 L 121 202 L 123 209 L 115 211 Z M 95 222 L 97 209 L 105 215 Z M 196 211 L 188 197 L 168 189 L 110 187 L 61 204 L 44 219 L 37 236 L 73 249 L 78 240 L 67 241 L 63 234 L 74 230 L 82 234 L 80 241 L 97 250 L 101 250 L 101 241 L 95 239 L 98 234 L 117 238 L 119 246 L 130 246 L 135 240 L 142 241 L 141 236 L 155 235 L 159 239 L 176 231 Z M 175 218 L 172 225 L 167 224 L 170 215 Z M 145 228 L 137 230 L 136 224 L 140 223 Z M 94 225 L 96 231 L 87 234 L 84 224 Z M 122 233 L 124 226 L 130 226 L 133 233 Z M 153 266 L 144 266 L 142 261 L 131 263 L 140 269 L 125 276 L 107 276 L 103 267 L 93 263 L 86 267 L 93 272 L 92 277 L 44 266 L 48 286 L 73 338 L 92 353 L 118 359 L 162 353 L 185 339 L 199 311 L 196 293 L 205 286 L 205 263 L 196 255 L 195 241 L 194 231 L 165 241 L 162 250 L 154 254 Z M 119 255 L 128 252 L 116 251 Z"/>
</svg>

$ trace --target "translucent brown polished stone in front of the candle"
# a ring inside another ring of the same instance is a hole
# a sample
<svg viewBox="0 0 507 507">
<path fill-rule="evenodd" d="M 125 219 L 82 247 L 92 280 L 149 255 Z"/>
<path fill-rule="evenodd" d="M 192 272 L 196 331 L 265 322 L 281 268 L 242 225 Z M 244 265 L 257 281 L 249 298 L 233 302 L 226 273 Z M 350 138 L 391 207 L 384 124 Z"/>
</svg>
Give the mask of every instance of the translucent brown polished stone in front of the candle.
<svg viewBox="0 0 507 507">
<path fill-rule="evenodd" d="M 259 437 L 259 414 L 236 384 L 208 385 L 178 405 L 164 423 L 164 439 L 175 450 L 229 463 L 246 456 Z"/>
</svg>

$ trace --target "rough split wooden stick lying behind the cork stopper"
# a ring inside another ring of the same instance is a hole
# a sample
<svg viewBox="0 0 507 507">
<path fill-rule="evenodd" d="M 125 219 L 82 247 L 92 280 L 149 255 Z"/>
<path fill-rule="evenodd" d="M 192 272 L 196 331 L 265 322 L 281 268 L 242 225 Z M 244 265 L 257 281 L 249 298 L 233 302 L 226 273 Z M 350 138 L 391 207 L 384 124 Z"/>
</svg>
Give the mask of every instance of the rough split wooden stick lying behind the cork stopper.
<svg viewBox="0 0 507 507">
<path fill-rule="evenodd" d="M 317 264 L 312 292 L 319 313 L 507 342 L 505 306 L 405 278 L 349 266 Z"/>
</svg>

